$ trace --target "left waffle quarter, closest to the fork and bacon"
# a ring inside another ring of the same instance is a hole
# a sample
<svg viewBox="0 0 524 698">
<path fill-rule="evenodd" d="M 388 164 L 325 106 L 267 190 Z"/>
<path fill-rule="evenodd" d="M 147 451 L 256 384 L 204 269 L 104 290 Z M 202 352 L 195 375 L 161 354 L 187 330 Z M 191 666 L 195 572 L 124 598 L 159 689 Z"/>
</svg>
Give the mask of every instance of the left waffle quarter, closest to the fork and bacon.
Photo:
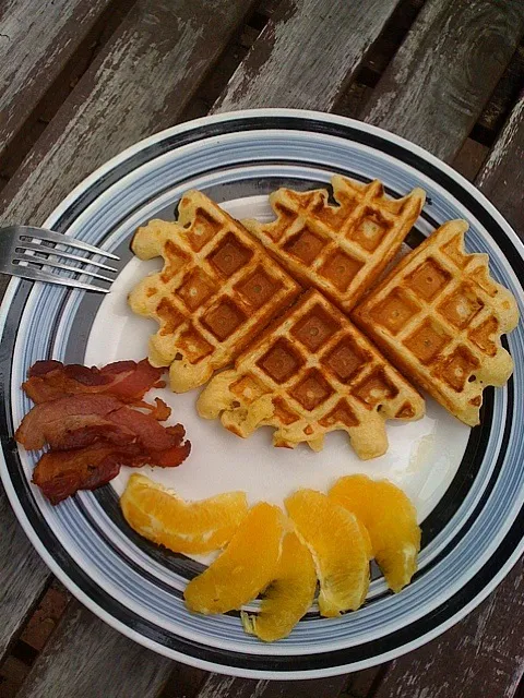
<svg viewBox="0 0 524 698">
<path fill-rule="evenodd" d="M 170 365 L 171 388 L 190 390 L 240 353 L 299 291 L 263 246 L 198 191 L 178 207 L 178 221 L 152 220 L 131 248 L 164 268 L 130 293 L 135 313 L 155 318 L 150 361 Z"/>
</svg>

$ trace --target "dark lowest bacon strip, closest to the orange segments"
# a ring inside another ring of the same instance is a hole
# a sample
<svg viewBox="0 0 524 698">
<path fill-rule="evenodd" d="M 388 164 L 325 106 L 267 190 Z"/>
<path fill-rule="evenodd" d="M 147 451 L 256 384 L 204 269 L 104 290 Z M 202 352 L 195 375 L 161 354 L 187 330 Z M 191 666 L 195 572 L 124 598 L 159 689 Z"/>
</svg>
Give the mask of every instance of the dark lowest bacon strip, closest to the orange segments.
<svg viewBox="0 0 524 698">
<path fill-rule="evenodd" d="M 115 478 L 121 466 L 132 468 L 147 462 L 136 446 L 100 444 L 90 448 L 48 452 L 33 471 L 33 482 L 51 504 L 58 504 L 79 490 L 96 490 Z"/>
</svg>

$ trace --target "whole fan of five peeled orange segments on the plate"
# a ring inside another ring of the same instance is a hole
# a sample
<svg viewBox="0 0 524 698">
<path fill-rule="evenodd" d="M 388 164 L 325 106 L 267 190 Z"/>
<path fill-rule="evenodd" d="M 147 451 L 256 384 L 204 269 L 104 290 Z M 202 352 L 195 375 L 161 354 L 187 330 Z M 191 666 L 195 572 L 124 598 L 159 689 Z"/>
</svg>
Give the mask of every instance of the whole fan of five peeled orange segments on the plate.
<svg viewBox="0 0 524 698">
<path fill-rule="evenodd" d="M 408 497 L 386 480 L 337 480 L 329 495 L 298 490 L 279 507 L 248 510 L 242 492 L 186 503 L 139 473 L 120 498 L 128 524 L 175 552 L 225 549 L 184 591 L 191 611 L 241 609 L 261 595 L 258 612 L 242 610 L 246 633 L 273 642 L 287 637 L 314 604 L 324 617 L 356 611 L 366 600 L 376 558 L 397 592 L 417 568 L 420 529 Z"/>
</svg>

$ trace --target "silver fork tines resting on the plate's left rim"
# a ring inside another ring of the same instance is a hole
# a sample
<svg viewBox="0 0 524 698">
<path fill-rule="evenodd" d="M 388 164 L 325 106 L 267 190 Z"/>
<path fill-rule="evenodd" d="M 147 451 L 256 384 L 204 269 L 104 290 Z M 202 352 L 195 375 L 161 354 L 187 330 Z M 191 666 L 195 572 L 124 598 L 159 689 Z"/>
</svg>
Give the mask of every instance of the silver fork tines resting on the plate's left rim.
<svg viewBox="0 0 524 698">
<path fill-rule="evenodd" d="M 98 272 L 92 272 L 90 267 L 105 269 L 106 272 L 118 272 L 118 269 L 102 262 L 94 262 L 87 256 L 62 251 L 57 245 L 91 252 L 111 260 L 120 258 L 111 252 L 106 252 L 82 242 L 82 240 L 75 240 L 70 236 L 64 236 L 53 230 L 31 226 L 9 226 L 8 228 L 0 228 L 0 272 L 31 279 L 32 281 L 60 284 L 61 286 L 83 288 L 88 291 L 98 291 L 99 293 L 108 293 L 110 291 L 109 287 L 85 284 L 72 276 L 63 276 L 61 272 L 83 274 L 93 279 L 112 284 L 114 278 L 98 274 Z M 79 266 L 63 264 L 58 257 L 78 262 Z"/>
</svg>

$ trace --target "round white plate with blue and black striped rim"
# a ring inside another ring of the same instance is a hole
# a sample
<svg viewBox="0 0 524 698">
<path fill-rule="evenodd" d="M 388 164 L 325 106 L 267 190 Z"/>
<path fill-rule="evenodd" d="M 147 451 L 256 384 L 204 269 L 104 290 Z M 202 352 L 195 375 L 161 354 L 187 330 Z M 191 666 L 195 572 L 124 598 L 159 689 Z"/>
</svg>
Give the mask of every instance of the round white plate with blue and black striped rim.
<svg viewBox="0 0 524 698">
<path fill-rule="evenodd" d="M 368 667 L 434 638 L 475 607 L 524 550 L 524 329 L 504 338 L 515 372 L 485 393 L 481 425 L 468 429 L 427 399 L 419 422 L 388 424 L 390 450 L 359 461 L 345 434 L 330 434 L 321 454 L 307 446 L 275 450 L 270 430 L 242 441 L 198 418 L 198 392 L 163 392 L 193 443 L 178 469 L 145 468 L 182 496 L 246 490 L 250 502 L 282 503 L 299 486 L 326 490 L 340 476 L 388 477 L 414 500 L 422 527 L 419 570 L 400 594 L 380 573 L 366 604 L 340 618 L 313 606 L 291 635 L 263 643 L 241 629 L 239 614 L 202 616 L 182 592 L 207 558 L 163 552 L 133 533 L 118 507 L 129 472 L 57 507 L 31 484 L 37 454 L 9 440 L 29 400 L 20 389 L 39 359 L 103 364 L 146 356 L 155 324 L 133 316 L 128 291 L 158 263 L 131 258 L 130 238 L 154 217 L 174 219 L 181 194 L 200 189 L 238 217 L 271 218 L 267 194 L 278 186 L 329 185 L 342 173 L 380 178 L 401 196 L 414 186 L 427 203 L 410 236 L 424 239 L 450 218 L 466 218 L 466 246 L 490 255 L 492 276 L 524 298 L 523 246 L 493 206 L 466 180 L 421 148 L 380 129 L 317 112 L 267 109 L 199 119 L 129 148 L 97 170 L 46 221 L 121 255 L 104 299 L 79 290 L 13 279 L 1 313 L 2 480 L 33 544 L 51 570 L 92 611 L 142 645 L 201 669 L 258 678 L 307 678 Z M 521 306 L 521 313 L 523 309 Z M 257 609 L 254 602 L 250 607 Z"/>
</svg>

